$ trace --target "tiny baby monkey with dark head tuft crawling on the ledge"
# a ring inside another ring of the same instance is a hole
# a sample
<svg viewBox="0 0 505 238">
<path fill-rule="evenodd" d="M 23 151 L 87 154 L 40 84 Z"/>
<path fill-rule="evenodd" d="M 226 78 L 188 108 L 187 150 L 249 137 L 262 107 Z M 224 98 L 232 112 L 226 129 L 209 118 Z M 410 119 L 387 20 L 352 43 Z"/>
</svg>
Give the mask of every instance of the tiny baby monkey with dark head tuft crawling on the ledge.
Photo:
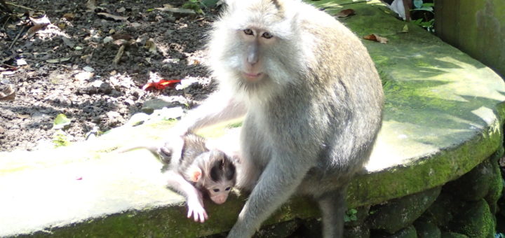
<svg viewBox="0 0 505 238">
<path fill-rule="evenodd" d="M 207 195 L 216 204 L 226 202 L 231 188 L 236 182 L 235 161 L 224 152 L 209 149 L 206 139 L 196 134 L 182 136 L 184 145 L 182 154 L 172 156 L 173 148 L 170 144 L 159 149 L 164 158 L 180 158 L 170 160 L 165 173 L 168 188 L 171 188 L 187 200 L 187 217 L 194 217 L 194 221 L 203 223 L 208 219 L 203 208 L 203 195 Z"/>
</svg>

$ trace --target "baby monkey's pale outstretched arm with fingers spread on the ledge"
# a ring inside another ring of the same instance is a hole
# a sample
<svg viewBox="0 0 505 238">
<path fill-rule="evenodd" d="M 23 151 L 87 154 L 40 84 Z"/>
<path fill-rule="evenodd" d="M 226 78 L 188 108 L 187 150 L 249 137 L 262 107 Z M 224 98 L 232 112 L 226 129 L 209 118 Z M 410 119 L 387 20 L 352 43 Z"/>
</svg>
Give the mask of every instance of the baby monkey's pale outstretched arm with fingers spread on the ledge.
<svg viewBox="0 0 505 238">
<path fill-rule="evenodd" d="M 180 174 L 168 171 L 168 188 L 176 190 L 180 195 L 186 198 L 188 206 L 187 218 L 194 217 L 194 221 L 203 223 L 208 219 L 207 212 L 203 208 L 203 197 L 201 192 L 196 189 L 191 183 L 186 181 Z"/>
</svg>

